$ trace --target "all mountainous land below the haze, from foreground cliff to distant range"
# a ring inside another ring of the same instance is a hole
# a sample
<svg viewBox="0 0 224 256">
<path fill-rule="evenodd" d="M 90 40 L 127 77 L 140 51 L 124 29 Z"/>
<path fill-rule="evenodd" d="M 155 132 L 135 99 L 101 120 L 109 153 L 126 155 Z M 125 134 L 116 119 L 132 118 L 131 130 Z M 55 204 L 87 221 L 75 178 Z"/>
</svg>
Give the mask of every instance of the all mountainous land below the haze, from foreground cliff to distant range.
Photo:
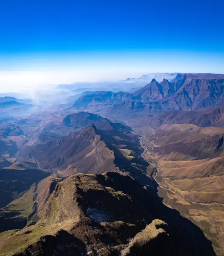
<svg viewBox="0 0 224 256">
<path fill-rule="evenodd" d="M 0 255 L 223 256 L 224 75 L 75 98 L 3 116 Z"/>
</svg>

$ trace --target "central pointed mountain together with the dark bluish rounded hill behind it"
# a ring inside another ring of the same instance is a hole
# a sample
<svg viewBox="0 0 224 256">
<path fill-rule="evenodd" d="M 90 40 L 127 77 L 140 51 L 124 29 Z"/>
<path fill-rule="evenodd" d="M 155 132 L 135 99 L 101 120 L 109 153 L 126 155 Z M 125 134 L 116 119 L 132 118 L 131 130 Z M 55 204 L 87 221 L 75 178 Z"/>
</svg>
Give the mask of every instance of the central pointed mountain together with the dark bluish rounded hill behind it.
<svg viewBox="0 0 224 256">
<path fill-rule="evenodd" d="M 94 124 L 81 130 L 89 123 Z M 41 134 L 39 140 L 22 148 L 18 155 L 24 160 L 36 161 L 43 169 L 57 170 L 64 176 L 116 171 L 114 154 L 138 168 L 141 154 L 136 154 L 139 149 L 135 140 L 138 139 L 128 126 L 88 112 L 66 116 L 63 125 L 69 128 L 66 130 L 70 131 L 69 135 L 54 135 L 56 127 L 49 135 Z"/>
</svg>

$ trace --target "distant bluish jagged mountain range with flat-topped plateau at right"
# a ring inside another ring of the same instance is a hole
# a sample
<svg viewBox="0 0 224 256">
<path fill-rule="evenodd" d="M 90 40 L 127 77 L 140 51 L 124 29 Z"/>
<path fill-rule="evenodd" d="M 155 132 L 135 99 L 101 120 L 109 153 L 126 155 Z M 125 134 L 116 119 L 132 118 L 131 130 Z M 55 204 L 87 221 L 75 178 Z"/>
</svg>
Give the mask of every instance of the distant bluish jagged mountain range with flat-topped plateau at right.
<svg viewBox="0 0 224 256">
<path fill-rule="evenodd" d="M 224 101 L 224 75 L 177 74 L 172 81 L 155 79 L 133 93 L 94 92 L 81 96 L 75 109 L 130 108 L 147 113 L 201 109 Z M 140 104 L 139 104 L 140 103 Z"/>
</svg>

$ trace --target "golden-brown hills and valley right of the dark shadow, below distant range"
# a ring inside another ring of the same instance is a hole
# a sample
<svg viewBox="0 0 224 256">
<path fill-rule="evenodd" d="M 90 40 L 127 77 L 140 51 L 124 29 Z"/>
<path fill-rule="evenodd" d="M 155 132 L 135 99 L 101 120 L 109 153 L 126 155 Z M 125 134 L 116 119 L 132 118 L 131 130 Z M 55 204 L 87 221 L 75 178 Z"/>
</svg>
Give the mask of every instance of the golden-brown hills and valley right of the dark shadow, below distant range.
<svg viewBox="0 0 224 256">
<path fill-rule="evenodd" d="M 201 227 L 223 255 L 224 128 L 168 122 L 140 130 L 164 203 Z"/>
</svg>

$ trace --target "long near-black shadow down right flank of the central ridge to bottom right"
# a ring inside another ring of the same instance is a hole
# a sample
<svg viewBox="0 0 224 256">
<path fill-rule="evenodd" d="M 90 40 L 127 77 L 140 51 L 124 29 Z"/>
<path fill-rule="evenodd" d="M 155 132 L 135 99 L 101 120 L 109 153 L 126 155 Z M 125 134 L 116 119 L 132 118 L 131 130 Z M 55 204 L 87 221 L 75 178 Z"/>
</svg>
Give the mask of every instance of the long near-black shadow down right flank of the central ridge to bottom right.
<svg viewBox="0 0 224 256">
<path fill-rule="evenodd" d="M 131 161 L 127 160 L 121 152 L 112 145 L 114 138 L 109 134 L 104 134 L 100 132 L 101 137 L 106 142 L 107 146 L 114 151 L 115 154 L 115 164 L 120 170 L 130 172 L 131 175 L 138 180 L 142 186 L 147 187 L 149 192 L 149 204 L 152 209 L 152 215 L 156 216 L 168 224 L 172 235 L 175 236 L 176 241 L 183 248 L 186 248 L 186 252 L 190 252 L 189 256 L 215 256 L 215 252 L 212 247 L 212 242 L 208 240 L 202 230 L 193 224 L 187 218 L 181 216 L 181 214 L 175 210 L 165 206 L 162 202 L 162 198 L 159 197 L 157 193 L 157 183 L 152 177 L 147 177 L 146 168 L 149 163 L 141 157 L 141 146 L 139 145 L 139 140 L 137 139 L 134 145 L 133 141 L 124 140 L 122 143 L 126 142 L 127 148 L 134 149 L 138 152 L 138 164 L 141 165 L 141 169 L 136 169 L 132 166 Z M 114 134 L 113 134 L 114 135 Z"/>
</svg>

